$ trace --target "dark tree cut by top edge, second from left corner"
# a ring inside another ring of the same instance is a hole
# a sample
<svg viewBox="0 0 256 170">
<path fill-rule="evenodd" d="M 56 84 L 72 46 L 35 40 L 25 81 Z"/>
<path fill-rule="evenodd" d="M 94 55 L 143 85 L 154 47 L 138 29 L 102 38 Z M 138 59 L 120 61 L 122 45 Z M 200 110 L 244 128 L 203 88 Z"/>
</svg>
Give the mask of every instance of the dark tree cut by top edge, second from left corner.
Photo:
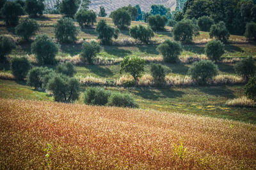
<svg viewBox="0 0 256 170">
<path fill-rule="evenodd" d="M 36 17 L 42 15 L 44 11 L 44 3 L 41 0 L 26 0 L 25 11 L 29 17 Z"/>
</svg>

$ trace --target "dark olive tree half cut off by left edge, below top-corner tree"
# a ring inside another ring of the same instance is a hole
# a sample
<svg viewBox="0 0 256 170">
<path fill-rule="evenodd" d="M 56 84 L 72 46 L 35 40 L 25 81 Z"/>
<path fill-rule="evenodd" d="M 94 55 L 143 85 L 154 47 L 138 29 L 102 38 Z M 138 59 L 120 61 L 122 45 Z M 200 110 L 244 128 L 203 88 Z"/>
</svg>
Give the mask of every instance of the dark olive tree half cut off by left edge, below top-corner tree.
<svg viewBox="0 0 256 170">
<path fill-rule="evenodd" d="M 6 36 L 0 36 L 0 62 L 6 62 L 6 55 L 8 55 L 16 47 L 12 39 Z"/>
</svg>

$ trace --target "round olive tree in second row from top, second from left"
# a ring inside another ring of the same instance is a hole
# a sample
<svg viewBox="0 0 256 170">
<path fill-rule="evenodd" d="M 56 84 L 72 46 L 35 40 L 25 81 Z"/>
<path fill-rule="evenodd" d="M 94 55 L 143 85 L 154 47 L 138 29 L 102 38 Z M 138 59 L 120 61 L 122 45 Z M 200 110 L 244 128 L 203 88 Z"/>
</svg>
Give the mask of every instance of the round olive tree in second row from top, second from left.
<svg viewBox="0 0 256 170">
<path fill-rule="evenodd" d="M 62 43 L 76 41 L 79 30 L 74 25 L 71 18 L 60 18 L 54 26 L 55 37 Z"/>
</svg>

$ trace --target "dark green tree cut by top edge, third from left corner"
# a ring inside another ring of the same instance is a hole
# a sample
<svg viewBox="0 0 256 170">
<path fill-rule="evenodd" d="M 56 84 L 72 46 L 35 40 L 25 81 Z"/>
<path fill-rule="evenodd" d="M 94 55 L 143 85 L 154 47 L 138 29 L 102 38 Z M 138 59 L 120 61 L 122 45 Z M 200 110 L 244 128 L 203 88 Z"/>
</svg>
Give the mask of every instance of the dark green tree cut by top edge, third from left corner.
<svg viewBox="0 0 256 170">
<path fill-rule="evenodd" d="M 65 17 L 74 18 L 79 7 L 77 0 L 63 0 L 60 4 L 60 13 Z"/>
</svg>

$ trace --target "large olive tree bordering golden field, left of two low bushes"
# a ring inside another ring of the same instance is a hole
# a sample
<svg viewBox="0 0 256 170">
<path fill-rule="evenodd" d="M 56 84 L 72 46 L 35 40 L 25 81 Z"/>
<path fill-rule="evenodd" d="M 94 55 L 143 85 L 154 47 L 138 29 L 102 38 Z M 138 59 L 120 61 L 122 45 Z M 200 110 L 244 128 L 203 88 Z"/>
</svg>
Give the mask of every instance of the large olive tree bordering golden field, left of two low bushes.
<svg viewBox="0 0 256 170">
<path fill-rule="evenodd" d="M 80 84 L 76 78 L 56 74 L 48 81 L 47 90 L 52 92 L 55 101 L 73 103 L 79 99 Z"/>
</svg>

